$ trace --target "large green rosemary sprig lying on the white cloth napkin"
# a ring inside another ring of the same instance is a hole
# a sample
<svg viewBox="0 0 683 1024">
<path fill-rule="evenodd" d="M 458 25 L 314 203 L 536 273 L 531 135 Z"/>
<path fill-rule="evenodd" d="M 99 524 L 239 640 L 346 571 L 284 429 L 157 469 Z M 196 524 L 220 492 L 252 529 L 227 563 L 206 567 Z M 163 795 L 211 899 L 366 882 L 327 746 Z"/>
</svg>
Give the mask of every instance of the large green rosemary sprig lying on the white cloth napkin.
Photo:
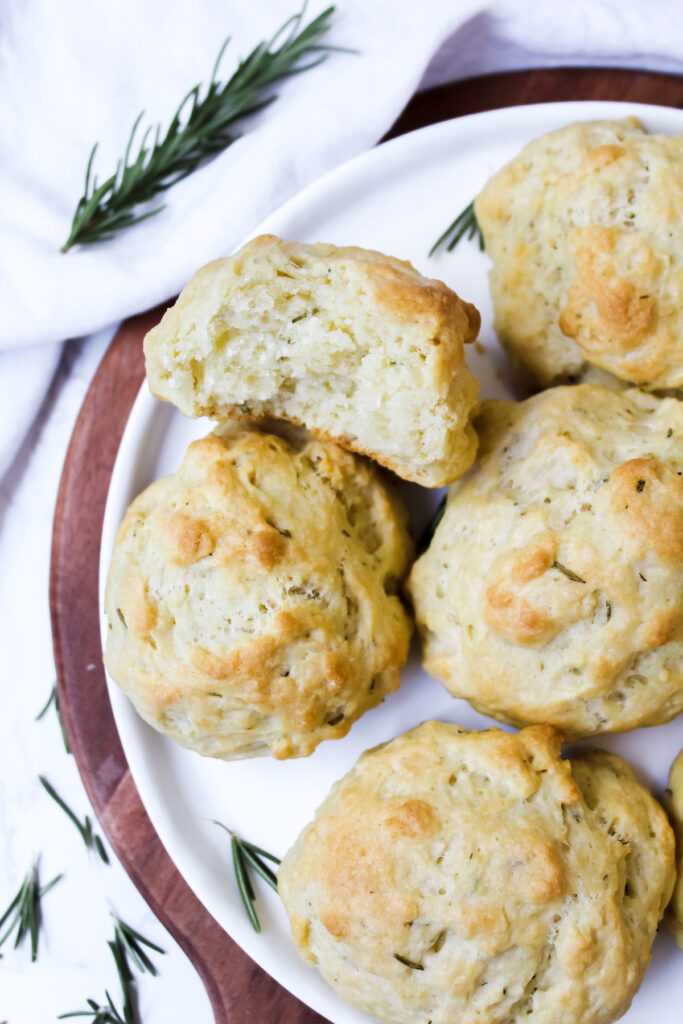
<svg viewBox="0 0 683 1024">
<path fill-rule="evenodd" d="M 233 126 L 262 111 L 276 98 L 276 93 L 268 91 L 272 85 L 315 68 L 331 50 L 341 49 L 321 43 L 330 29 L 334 9 L 328 7 L 304 26 L 304 3 L 299 13 L 288 18 L 270 40 L 259 43 L 249 56 L 239 62 L 237 71 L 226 82 L 219 82 L 216 75 L 230 41 L 228 36 L 218 51 L 206 94 L 201 96 L 201 84 L 190 89 L 163 136 L 162 126 L 157 125 L 154 142 L 150 145 L 151 127 L 145 129 L 139 143 L 135 142 L 143 116 L 143 112 L 140 113 L 116 171 L 101 184 L 97 184 L 97 178 L 92 173 L 97 150 L 95 143 L 86 167 L 83 196 L 78 201 L 71 231 L 61 251 L 67 252 L 77 244 L 111 239 L 122 228 L 137 224 L 163 210 L 164 205 L 142 212 L 139 207 L 234 142 L 239 133 Z M 308 54 L 318 55 L 305 60 Z"/>
</svg>

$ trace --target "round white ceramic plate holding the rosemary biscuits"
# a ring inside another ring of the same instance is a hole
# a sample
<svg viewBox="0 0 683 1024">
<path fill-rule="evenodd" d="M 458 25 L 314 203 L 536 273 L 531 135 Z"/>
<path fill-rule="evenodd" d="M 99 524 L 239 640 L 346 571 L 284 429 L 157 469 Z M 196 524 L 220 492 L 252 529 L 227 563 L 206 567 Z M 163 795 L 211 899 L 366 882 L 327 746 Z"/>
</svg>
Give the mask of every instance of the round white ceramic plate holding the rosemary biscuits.
<svg viewBox="0 0 683 1024">
<path fill-rule="evenodd" d="M 638 104 L 571 102 L 512 108 L 433 125 L 364 154 L 306 188 L 272 214 L 259 231 L 303 242 L 332 242 L 379 249 L 410 259 L 424 273 L 441 278 L 482 313 L 483 349 L 468 352 L 483 397 L 512 395 L 505 360 L 492 328 L 488 260 L 474 243 L 432 259 L 427 253 L 454 216 L 490 173 L 529 139 L 571 121 L 639 117 L 646 129 L 683 131 L 683 113 Z M 514 396 L 514 395 L 512 395 Z M 102 530 L 103 589 L 116 528 L 129 502 L 147 483 L 180 464 L 190 440 L 208 433 L 208 421 L 185 420 L 151 397 L 143 386 L 130 415 L 110 487 Z M 408 487 L 419 529 L 438 493 Z M 100 602 L 103 606 L 103 600 Z M 102 636 L 106 624 L 102 622 Z M 400 690 L 369 712 L 344 739 L 329 741 L 310 757 L 275 762 L 220 762 L 182 750 L 146 726 L 116 686 L 114 714 L 135 783 L 152 822 L 185 881 L 226 932 L 270 975 L 334 1024 L 368 1024 L 342 1002 L 316 971 L 304 965 L 292 942 L 276 896 L 258 886 L 262 933 L 249 925 L 237 894 L 225 822 L 240 835 L 282 856 L 332 783 L 362 751 L 428 718 L 488 727 L 492 722 L 454 700 L 422 670 L 417 646 Z M 683 746 L 683 718 L 654 729 L 599 740 L 627 757 L 655 792 Z M 589 744 L 590 745 L 590 744 Z M 628 1024 L 680 1024 L 683 959 L 666 929 L 652 965 L 629 1013 Z M 266 1022 L 259 1022 L 266 1024 Z"/>
</svg>

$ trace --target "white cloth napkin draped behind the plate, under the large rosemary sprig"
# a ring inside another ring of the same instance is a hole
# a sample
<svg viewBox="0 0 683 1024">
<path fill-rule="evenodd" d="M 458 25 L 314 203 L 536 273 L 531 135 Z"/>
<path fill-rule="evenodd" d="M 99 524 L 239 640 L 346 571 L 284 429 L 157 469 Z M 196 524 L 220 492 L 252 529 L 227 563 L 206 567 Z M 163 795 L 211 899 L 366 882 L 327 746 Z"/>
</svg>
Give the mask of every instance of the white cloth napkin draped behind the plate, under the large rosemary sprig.
<svg viewBox="0 0 683 1024">
<path fill-rule="evenodd" d="M 323 9 L 311 3 L 305 20 Z M 40 404 L 55 356 L 168 298 L 278 205 L 373 145 L 420 82 L 561 62 L 683 68 L 678 0 L 341 0 L 334 53 L 293 78 L 243 137 L 167 193 L 167 209 L 95 246 L 59 252 L 92 143 L 109 175 L 140 111 L 168 123 L 293 13 L 293 0 L 5 0 L 0 15 L 0 473 Z M 433 59 L 432 59 L 433 58 Z M 430 60 L 432 61 L 430 65 Z M 25 361 L 1 350 L 33 347 Z"/>
</svg>

